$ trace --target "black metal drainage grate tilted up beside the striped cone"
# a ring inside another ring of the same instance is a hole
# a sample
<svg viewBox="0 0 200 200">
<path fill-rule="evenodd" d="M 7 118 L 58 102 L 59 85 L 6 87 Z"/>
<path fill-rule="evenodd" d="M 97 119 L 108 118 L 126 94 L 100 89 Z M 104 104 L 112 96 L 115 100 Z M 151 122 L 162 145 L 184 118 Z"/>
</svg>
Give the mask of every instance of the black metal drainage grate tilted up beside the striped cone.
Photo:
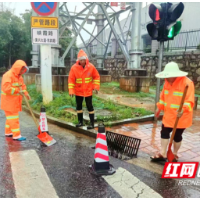
<svg viewBox="0 0 200 200">
<path fill-rule="evenodd" d="M 109 154 L 115 158 L 123 159 L 123 155 L 128 156 L 123 160 L 137 157 L 141 139 L 120 135 L 110 131 L 106 132 Z"/>
</svg>

